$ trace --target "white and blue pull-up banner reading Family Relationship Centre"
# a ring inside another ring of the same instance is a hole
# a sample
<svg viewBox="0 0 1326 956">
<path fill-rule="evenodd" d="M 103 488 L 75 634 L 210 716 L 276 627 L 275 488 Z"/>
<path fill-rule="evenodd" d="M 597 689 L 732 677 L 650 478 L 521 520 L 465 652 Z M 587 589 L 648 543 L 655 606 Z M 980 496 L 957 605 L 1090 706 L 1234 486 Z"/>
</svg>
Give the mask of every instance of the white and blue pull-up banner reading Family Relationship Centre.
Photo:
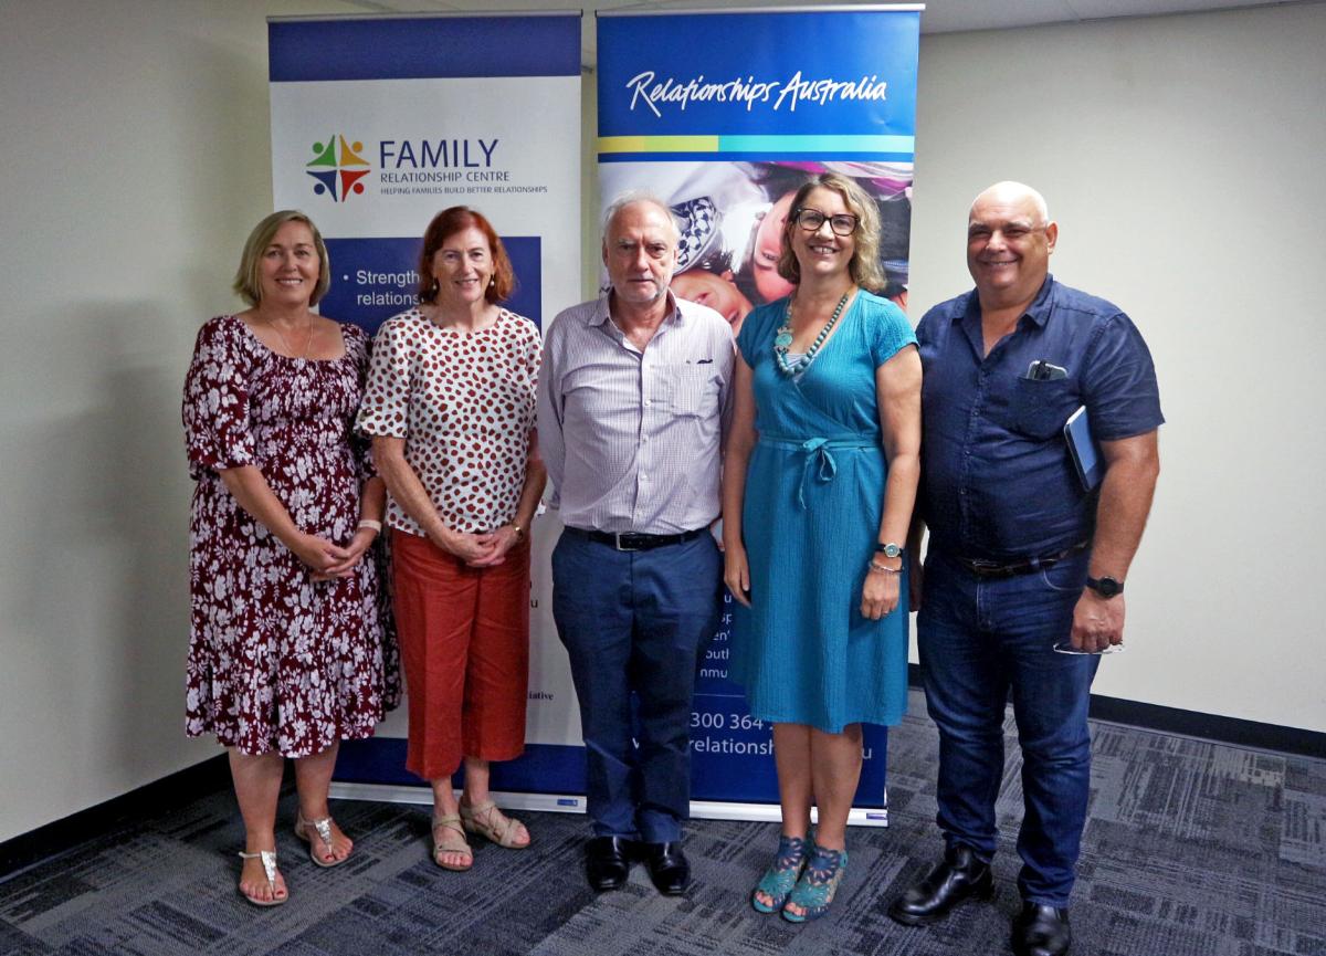
<svg viewBox="0 0 1326 956">
<path fill-rule="evenodd" d="M 268 45 L 276 208 L 304 209 L 326 239 L 324 314 L 373 333 L 412 306 L 423 231 L 457 204 L 503 237 L 513 312 L 542 326 L 579 301 L 579 13 L 272 19 Z M 493 786 L 581 794 L 579 717 L 550 614 L 553 522 L 540 524 L 529 748 L 495 765 Z M 334 793 L 431 801 L 404 770 L 404 712 L 342 747 Z"/>
</svg>

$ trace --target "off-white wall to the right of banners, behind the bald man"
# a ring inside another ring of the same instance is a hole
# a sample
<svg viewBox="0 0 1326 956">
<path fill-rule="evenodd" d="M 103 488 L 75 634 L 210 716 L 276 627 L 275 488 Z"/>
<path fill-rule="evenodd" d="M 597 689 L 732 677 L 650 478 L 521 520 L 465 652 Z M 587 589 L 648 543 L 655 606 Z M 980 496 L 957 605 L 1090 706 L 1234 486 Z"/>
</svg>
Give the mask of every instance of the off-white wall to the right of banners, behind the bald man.
<svg viewBox="0 0 1326 956">
<path fill-rule="evenodd" d="M 1040 188 L 1057 277 L 1115 301 L 1168 423 L 1095 692 L 1326 731 L 1326 5 L 923 37 L 911 308 Z"/>
</svg>

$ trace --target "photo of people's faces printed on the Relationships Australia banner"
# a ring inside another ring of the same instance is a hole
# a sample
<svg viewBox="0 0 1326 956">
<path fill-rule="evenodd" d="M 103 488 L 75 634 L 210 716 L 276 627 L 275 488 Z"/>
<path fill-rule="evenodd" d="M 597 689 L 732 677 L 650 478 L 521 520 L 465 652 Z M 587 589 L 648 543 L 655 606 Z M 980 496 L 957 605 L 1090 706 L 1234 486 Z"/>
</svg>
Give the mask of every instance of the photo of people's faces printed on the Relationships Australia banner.
<svg viewBox="0 0 1326 956">
<path fill-rule="evenodd" d="M 672 289 L 708 305 L 741 329 L 757 305 L 792 292 L 778 274 L 778 243 L 792 196 L 821 172 L 853 176 L 879 206 L 880 267 L 888 278 L 873 289 L 907 308 L 911 163 L 879 162 L 640 162 L 601 167 L 602 194 L 656 195 L 682 229 Z"/>
</svg>

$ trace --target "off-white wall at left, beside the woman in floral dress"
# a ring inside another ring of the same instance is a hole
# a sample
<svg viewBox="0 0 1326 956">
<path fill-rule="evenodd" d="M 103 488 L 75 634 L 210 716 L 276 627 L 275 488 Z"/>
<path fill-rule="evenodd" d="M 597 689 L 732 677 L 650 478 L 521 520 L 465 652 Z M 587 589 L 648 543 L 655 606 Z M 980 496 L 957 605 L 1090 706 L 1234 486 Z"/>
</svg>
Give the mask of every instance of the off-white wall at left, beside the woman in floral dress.
<svg viewBox="0 0 1326 956">
<path fill-rule="evenodd" d="M 5 3 L 0 839 L 221 750 L 183 733 L 194 333 L 271 211 L 260 0 Z"/>
</svg>

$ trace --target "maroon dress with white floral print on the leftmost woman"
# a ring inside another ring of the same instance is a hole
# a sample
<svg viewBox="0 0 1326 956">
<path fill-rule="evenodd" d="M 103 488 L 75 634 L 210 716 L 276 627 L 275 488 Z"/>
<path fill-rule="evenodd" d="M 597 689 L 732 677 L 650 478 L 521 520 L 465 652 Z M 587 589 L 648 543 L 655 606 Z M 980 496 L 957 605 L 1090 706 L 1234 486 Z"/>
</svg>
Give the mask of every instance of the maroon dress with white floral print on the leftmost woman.
<svg viewBox="0 0 1326 956">
<path fill-rule="evenodd" d="M 369 338 L 342 325 L 345 357 L 278 355 L 235 316 L 198 333 L 184 381 L 192 605 L 186 732 L 243 753 L 318 753 L 373 735 L 400 697 L 378 549 L 355 574 L 314 582 L 308 568 L 221 483 L 256 465 L 309 534 L 347 544 L 371 476 L 350 423 Z"/>
</svg>

